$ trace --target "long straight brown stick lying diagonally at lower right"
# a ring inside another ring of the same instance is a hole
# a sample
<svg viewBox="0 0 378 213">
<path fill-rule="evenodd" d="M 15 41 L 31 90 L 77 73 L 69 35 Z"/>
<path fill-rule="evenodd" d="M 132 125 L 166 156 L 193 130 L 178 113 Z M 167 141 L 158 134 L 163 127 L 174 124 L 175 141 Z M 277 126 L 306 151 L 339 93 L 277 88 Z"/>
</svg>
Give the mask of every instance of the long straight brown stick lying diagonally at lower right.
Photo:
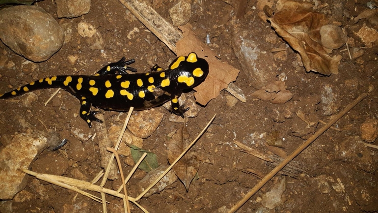
<svg viewBox="0 0 378 213">
<path fill-rule="evenodd" d="M 368 93 L 362 93 L 353 102 L 351 102 L 343 111 L 341 111 L 335 118 L 329 121 L 325 126 L 323 126 L 319 131 L 317 131 L 313 136 L 311 136 L 307 141 L 305 141 L 301 146 L 287 156 L 280 164 L 278 164 L 270 173 L 265 176 L 259 183 L 257 183 L 235 206 L 231 208 L 228 213 L 235 213 L 240 207 L 243 206 L 260 188 L 262 188 L 265 183 L 267 183 L 273 176 L 275 176 L 283 167 L 285 167 L 291 160 L 293 160 L 300 152 L 302 152 L 308 145 L 310 145 L 315 139 L 317 139 L 321 134 L 323 134 L 330 126 L 341 119 L 347 112 L 351 110 L 355 105 L 357 105 L 362 99 L 364 99 Z M 137 198 L 136 198 L 137 200 Z"/>
</svg>

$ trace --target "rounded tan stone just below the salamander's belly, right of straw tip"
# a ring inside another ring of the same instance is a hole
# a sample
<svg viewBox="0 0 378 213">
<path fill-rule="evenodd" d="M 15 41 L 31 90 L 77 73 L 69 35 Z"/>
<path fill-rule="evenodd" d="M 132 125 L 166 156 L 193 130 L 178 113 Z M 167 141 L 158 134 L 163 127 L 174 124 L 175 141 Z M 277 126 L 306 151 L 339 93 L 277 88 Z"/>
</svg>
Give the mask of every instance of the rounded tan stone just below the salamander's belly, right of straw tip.
<svg viewBox="0 0 378 213">
<path fill-rule="evenodd" d="M 128 129 L 139 138 L 147 138 L 162 122 L 163 114 L 159 109 L 152 108 L 135 113 L 128 124 Z"/>
</svg>

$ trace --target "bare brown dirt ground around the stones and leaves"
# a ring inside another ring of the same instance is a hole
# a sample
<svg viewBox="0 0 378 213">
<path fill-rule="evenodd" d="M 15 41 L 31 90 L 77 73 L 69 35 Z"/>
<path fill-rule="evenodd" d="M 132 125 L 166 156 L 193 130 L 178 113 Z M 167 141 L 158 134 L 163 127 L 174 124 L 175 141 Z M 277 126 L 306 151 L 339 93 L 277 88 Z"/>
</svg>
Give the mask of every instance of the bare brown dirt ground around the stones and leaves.
<svg viewBox="0 0 378 213">
<path fill-rule="evenodd" d="M 330 10 L 331 0 L 316 1 L 324 4 L 322 11 Z M 350 16 L 357 16 L 366 9 L 367 0 L 348 1 L 345 11 Z M 175 1 L 153 1 L 153 7 L 170 21 L 168 9 Z M 287 76 L 286 88 L 291 91 L 293 98 L 282 105 L 260 101 L 251 96 L 256 91 L 254 85 L 248 81 L 242 66 L 232 48 L 233 32 L 239 27 L 259 30 L 261 40 L 266 43 L 265 35 L 274 34 L 269 23 L 258 17 L 255 0 L 248 0 L 245 14 L 235 22 L 235 12 L 232 4 L 220 0 L 195 0 L 192 4 L 192 16 L 189 23 L 195 34 L 204 41 L 206 34 L 210 34 L 210 47 L 222 61 L 241 70 L 235 84 L 243 90 L 246 102 L 237 102 L 235 106 L 226 105 L 227 91 L 203 107 L 199 115 L 189 118 L 187 126 L 191 137 L 194 138 L 216 113 L 216 119 L 207 132 L 198 140 L 192 150 L 196 151 L 200 159 L 198 179 L 189 187 L 177 181 L 161 193 L 148 198 L 142 198 L 140 205 L 149 212 L 157 213 L 223 213 L 230 209 L 255 185 L 262 177 L 270 172 L 272 167 L 255 156 L 242 152 L 233 142 L 238 141 L 261 153 L 272 154 L 265 146 L 273 132 L 279 131 L 282 140 L 281 151 L 290 154 L 305 139 L 319 130 L 324 123 L 345 108 L 352 100 L 363 92 L 370 92 L 369 96 L 354 107 L 346 116 L 339 120 L 333 128 L 328 129 L 295 160 L 305 168 L 296 177 L 286 177 L 286 190 L 281 197 L 283 203 L 270 210 L 264 206 L 265 194 L 282 180 L 283 175 L 276 175 L 248 202 L 239 212 L 378 212 L 378 177 L 377 150 L 365 147 L 360 142 L 360 125 L 368 119 L 374 119 L 378 113 L 378 80 L 376 73 L 366 74 L 366 64 L 377 64 L 378 48 L 364 48 L 364 54 L 358 60 L 351 60 L 346 46 L 334 51 L 342 55 L 338 75 L 324 76 L 319 73 L 306 72 L 298 65 L 297 53 L 287 46 L 285 60 L 261 61 L 278 64 L 279 73 Z M 38 5 L 52 14 L 56 19 L 56 5 L 52 1 L 41 1 Z M 58 19 L 57 19 L 58 20 Z M 105 45 L 103 51 L 90 50 L 88 39 L 81 38 L 77 32 L 80 21 L 96 26 L 102 34 Z M 139 72 L 145 72 L 158 63 L 166 67 L 176 56 L 150 31 L 127 11 L 117 0 L 92 0 L 90 12 L 79 18 L 60 19 L 60 25 L 71 26 L 73 33 L 71 40 L 65 43 L 51 59 L 37 63 L 33 71 L 21 68 L 26 60 L 0 44 L 0 54 L 8 61 L 13 61 L 10 69 L 0 68 L 0 91 L 9 91 L 27 82 L 43 77 L 67 74 L 92 74 L 110 61 L 118 61 L 125 56 L 135 59 L 133 67 Z M 361 20 L 361 23 L 367 23 Z M 237 24 L 236 24 L 237 23 Z M 350 22 L 347 18 L 341 20 L 342 26 Z M 361 25 L 359 23 L 359 25 Z M 134 28 L 139 29 L 135 38 L 128 39 L 126 35 Z M 377 27 L 376 27 L 376 30 Z M 347 30 L 348 31 L 348 30 Z M 275 34 L 274 34 L 275 35 Z M 278 35 L 275 35 L 278 37 Z M 356 47 L 364 44 L 356 35 L 348 31 L 348 36 L 355 39 Z M 272 48 L 284 45 L 265 45 L 262 51 L 270 52 Z M 285 46 L 285 45 L 284 45 Z M 68 61 L 68 57 L 77 55 L 75 64 Z M 356 62 L 357 61 L 357 62 Z M 362 62 L 361 62 L 362 61 Z M 377 66 L 377 65 L 376 65 Z M 377 68 L 375 69 L 377 71 Z M 369 77 L 370 76 L 370 77 Z M 277 77 L 278 78 L 278 77 Z M 323 101 L 324 88 L 333 91 L 334 111 L 325 115 Z M 54 89 L 34 92 L 37 96 L 26 107 L 22 104 L 23 97 L 0 101 L 0 149 L 16 134 L 23 133 L 20 121 L 23 119 L 40 131 L 59 133 L 69 142 L 59 151 L 43 151 L 31 164 L 30 170 L 46 172 L 67 177 L 92 180 L 101 170 L 98 145 L 92 140 L 80 141 L 71 134 L 72 126 L 81 128 L 83 132 L 93 133 L 87 124 L 78 116 L 80 103 L 66 91 L 60 91 L 47 106 L 44 102 L 51 96 Z M 144 139 L 143 149 L 154 152 L 161 164 L 167 164 L 167 151 L 164 137 L 179 126 L 168 120 L 170 113 L 161 107 L 164 119 L 152 136 Z M 298 118 L 301 111 L 310 122 L 308 125 Z M 105 122 L 108 126 L 122 125 L 126 114 L 118 117 L 118 112 L 106 111 Z M 378 145 L 377 141 L 372 144 Z M 274 151 L 273 151 L 274 152 Z M 132 169 L 127 165 L 127 157 L 121 156 L 124 174 Z M 251 173 L 253 171 L 254 174 Z M 138 170 L 128 184 L 132 191 L 133 185 L 142 179 L 146 173 Z M 27 187 L 20 192 L 18 199 L 7 202 L 15 213 L 62 213 L 103 212 L 102 205 L 76 192 L 55 186 L 34 177 L 28 177 Z M 120 180 L 108 181 L 106 187 L 118 188 Z M 97 194 L 100 196 L 99 194 Z M 21 198 L 20 198 L 21 197 Z M 121 212 L 122 201 L 107 196 L 108 212 Z M 2 205 L 4 205 L 4 202 Z M 141 212 L 132 205 L 132 212 Z"/>
</svg>

